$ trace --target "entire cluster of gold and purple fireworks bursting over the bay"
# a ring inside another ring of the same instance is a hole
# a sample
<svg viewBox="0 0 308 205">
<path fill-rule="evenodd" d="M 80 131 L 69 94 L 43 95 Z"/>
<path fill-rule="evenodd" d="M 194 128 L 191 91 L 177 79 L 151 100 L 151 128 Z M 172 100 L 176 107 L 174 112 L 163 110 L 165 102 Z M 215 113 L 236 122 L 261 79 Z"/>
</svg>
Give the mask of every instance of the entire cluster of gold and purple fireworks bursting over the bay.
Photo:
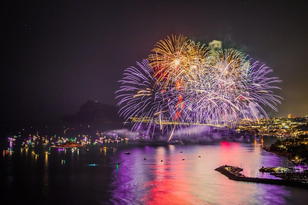
<svg viewBox="0 0 308 205">
<path fill-rule="evenodd" d="M 242 119 L 261 115 L 262 106 L 277 111 L 280 103 L 271 86 L 281 82 L 267 78 L 265 65 L 252 63 L 236 50 L 211 51 L 205 45 L 183 36 L 162 40 L 154 53 L 125 70 L 120 98 L 120 115 L 135 118 L 133 129 L 141 123 L 150 131 L 170 132 L 186 126 L 230 127 Z"/>
</svg>

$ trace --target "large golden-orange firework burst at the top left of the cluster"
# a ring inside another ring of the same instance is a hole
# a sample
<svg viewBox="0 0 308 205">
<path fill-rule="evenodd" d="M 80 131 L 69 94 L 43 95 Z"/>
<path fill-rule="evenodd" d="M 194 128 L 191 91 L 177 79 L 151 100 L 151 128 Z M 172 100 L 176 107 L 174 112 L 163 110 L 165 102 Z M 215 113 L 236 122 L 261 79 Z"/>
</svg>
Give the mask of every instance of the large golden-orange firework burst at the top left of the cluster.
<svg viewBox="0 0 308 205">
<path fill-rule="evenodd" d="M 172 36 L 157 43 L 149 56 L 157 82 L 164 88 L 185 87 L 190 80 L 196 80 L 202 64 L 207 62 L 209 49 L 200 43 L 186 40 L 183 36 Z"/>
</svg>

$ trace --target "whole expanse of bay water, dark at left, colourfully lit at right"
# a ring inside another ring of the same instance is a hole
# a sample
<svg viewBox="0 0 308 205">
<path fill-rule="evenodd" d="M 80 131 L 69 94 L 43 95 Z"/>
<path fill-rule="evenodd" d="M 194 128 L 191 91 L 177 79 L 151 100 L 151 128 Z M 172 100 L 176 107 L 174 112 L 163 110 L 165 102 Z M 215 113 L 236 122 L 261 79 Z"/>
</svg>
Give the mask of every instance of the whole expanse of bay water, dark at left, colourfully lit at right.
<svg viewBox="0 0 308 205">
<path fill-rule="evenodd" d="M 263 146 L 277 140 L 263 139 Z M 258 171 L 261 166 L 292 166 L 261 146 L 259 141 L 122 145 L 116 151 L 91 146 L 79 152 L 51 148 L 49 155 L 43 146 L 34 149 L 39 156 L 17 147 L 0 158 L 2 199 L 12 204 L 306 204 L 307 190 L 232 181 L 214 171 L 229 164 L 242 167 L 246 176 L 270 178 Z M 97 166 L 88 166 L 93 163 Z"/>
</svg>

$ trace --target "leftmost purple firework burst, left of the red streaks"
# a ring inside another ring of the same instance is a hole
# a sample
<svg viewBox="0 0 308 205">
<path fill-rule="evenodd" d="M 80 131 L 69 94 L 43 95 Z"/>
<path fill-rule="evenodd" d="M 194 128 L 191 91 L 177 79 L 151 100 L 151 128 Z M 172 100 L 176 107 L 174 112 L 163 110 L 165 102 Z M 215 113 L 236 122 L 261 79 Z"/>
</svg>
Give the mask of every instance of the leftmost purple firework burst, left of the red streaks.
<svg viewBox="0 0 308 205">
<path fill-rule="evenodd" d="M 174 95 L 159 86 L 147 59 L 137 63 L 137 66 L 127 68 L 123 79 L 119 81 L 122 83 L 116 92 L 119 93 L 116 98 L 120 98 L 119 113 L 127 120 L 134 119 L 133 130 L 138 131 L 141 123 L 145 123 L 148 128 L 146 135 L 151 127 L 154 131 L 156 124 L 159 124 L 162 132 L 168 131 L 171 125 L 164 122 L 169 121 L 171 113 L 174 113 Z"/>
</svg>

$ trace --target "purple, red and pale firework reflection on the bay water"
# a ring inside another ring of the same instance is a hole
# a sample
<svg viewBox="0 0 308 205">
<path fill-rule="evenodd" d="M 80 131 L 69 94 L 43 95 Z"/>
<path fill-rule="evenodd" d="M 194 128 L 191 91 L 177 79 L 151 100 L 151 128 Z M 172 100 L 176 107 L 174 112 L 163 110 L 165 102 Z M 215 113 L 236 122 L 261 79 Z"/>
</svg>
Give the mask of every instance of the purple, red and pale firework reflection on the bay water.
<svg viewBox="0 0 308 205">
<path fill-rule="evenodd" d="M 246 176 L 262 177 L 262 173 L 258 171 L 262 165 L 292 166 L 285 158 L 261 150 L 261 144 L 263 144 L 261 140 L 257 140 L 257 146 L 254 142 L 245 144 L 223 141 L 205 146 L 134 147 L 129 150 L 131 155 L 120 154 L 117 159 L 120 160 L 120 165 L 112 177 L 111 202 L 118 204 L 290 203 L 287 199 L 292 193 L 288 187 L 236 182 L 214 171 L 220 165 L 232 164 L 242 167 Z"/>
</svg>

